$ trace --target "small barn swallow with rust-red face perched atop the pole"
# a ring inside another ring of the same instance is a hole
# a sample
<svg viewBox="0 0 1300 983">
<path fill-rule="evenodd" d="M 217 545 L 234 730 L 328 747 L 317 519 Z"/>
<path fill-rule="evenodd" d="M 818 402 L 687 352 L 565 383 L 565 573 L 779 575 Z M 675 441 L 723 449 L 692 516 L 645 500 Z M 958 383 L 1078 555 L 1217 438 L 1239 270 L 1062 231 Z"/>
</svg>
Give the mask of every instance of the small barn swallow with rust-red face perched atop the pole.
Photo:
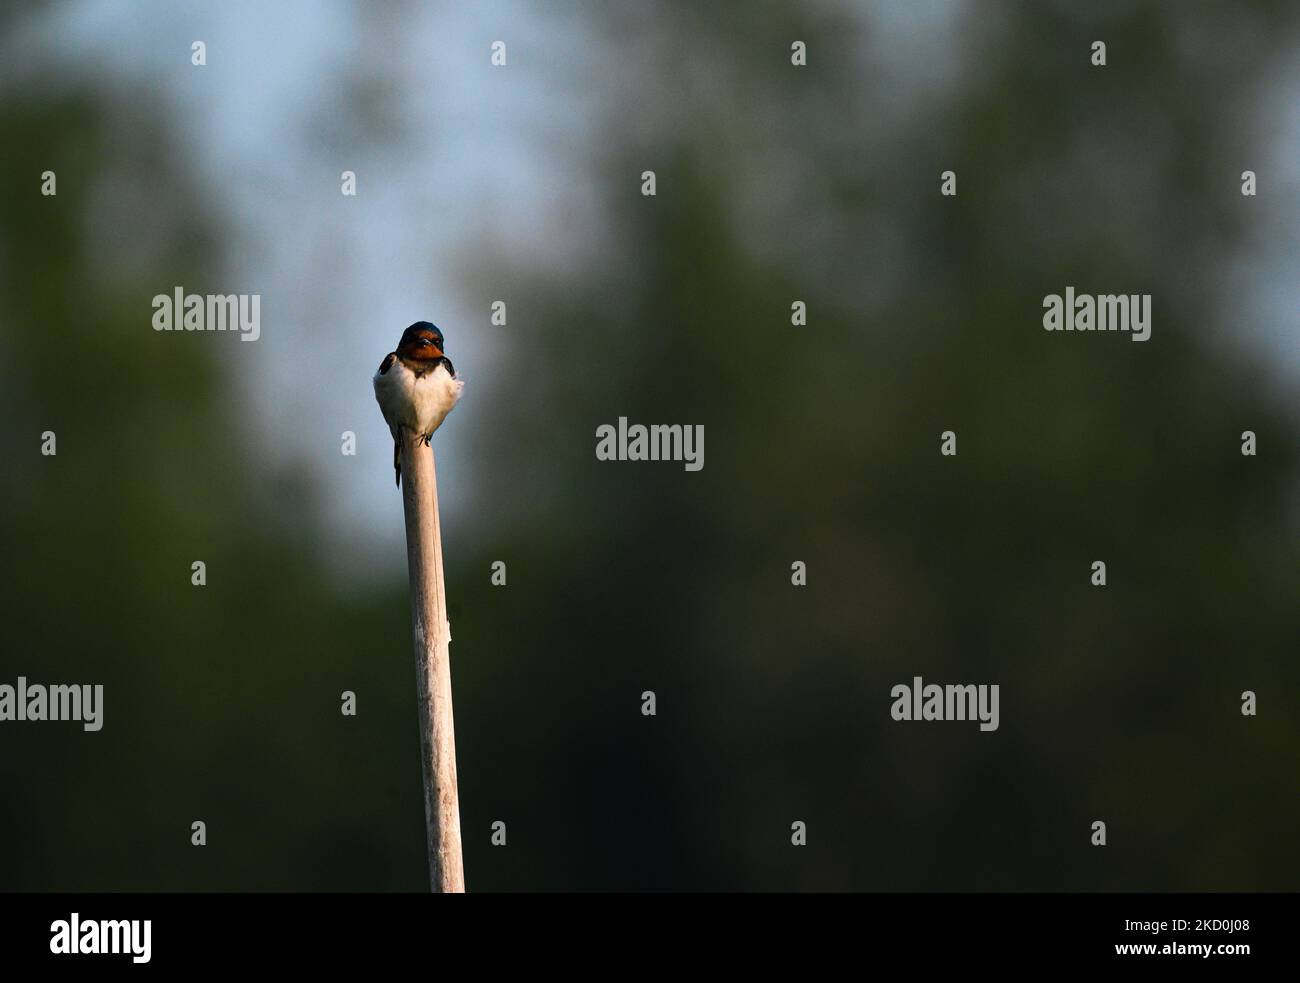
<svg viewBox="0 0 1300 983">
<path fill-rule="evenodd" d="M 425 443 L 451 407 L 460 399 L 464 382 L 456 378 L 443 351 L 442 332 L 428 321 L 416 321 L 404 332 L 398 350 L 390 351 L 374 373 L 374 398 L 393 433 L 393 469 L 402 486 L 402 426 Z"/>
</svg>

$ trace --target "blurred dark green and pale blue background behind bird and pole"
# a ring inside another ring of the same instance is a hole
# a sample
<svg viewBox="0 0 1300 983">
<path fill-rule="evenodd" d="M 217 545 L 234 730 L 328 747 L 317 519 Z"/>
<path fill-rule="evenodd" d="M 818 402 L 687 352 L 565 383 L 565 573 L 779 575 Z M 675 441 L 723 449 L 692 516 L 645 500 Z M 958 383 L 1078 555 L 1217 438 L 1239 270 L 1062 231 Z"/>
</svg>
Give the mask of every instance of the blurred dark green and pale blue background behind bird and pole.
<svg viewBox="0 0 1300 983">
<path fill-rule="evenodd" d="M 0 888 L 426 888 L 422 319 L 471 891 L 1300 884 L 1295 4 L 8 5 L 0 144 L 0 683 L 105 688 L 0 726 Z"/>
</svg>

